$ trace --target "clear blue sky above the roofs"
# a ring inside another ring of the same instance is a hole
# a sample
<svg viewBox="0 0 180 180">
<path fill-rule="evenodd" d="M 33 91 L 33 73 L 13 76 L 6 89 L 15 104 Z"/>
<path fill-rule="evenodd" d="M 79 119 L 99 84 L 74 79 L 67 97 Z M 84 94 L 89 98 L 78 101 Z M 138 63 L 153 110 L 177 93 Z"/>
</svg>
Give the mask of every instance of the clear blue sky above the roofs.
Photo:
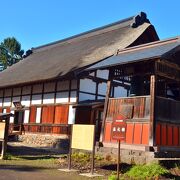
<svg viewBox="0 0 180 180">
<path fill-rule="evenodd" d="M 123 18 L 147 13 L 161 39 L 180 35 L 180 0 L 0 0 L 0 41 L 27 50 Z"/>
</svg>

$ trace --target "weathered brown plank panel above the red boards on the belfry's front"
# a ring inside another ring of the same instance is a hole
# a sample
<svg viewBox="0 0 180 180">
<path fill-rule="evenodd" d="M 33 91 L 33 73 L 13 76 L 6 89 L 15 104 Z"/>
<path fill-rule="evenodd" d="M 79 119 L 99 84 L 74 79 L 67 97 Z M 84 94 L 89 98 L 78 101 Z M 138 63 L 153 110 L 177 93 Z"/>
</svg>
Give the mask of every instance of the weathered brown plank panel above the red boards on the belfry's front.
<svg viewBox="0 0 180 180">
<path fill-rule="evenodd" d="M 124 114 L 128 119 L 150 117 L 150 96 L 110 98 L 107 109 L 107 120 Z"/>
</svg>

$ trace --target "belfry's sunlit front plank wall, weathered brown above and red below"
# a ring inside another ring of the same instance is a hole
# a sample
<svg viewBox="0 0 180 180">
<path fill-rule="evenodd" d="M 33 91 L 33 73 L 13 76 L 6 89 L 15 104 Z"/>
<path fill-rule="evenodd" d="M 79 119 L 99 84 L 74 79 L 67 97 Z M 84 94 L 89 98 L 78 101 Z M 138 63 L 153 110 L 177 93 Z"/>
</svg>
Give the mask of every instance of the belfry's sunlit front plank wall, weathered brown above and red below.
<svg viewBox="0 0 180 180">
<path fill-rule="evenodd" d="M 105 123 L 104 142 L 116 142 L 111 137 L 112 120 L 121 114 L 124 105 L 132 105 L 132 117 L 127 120 L 126 144 L 149 144 L 150 96 L 110 98 Z"/>
</svg>

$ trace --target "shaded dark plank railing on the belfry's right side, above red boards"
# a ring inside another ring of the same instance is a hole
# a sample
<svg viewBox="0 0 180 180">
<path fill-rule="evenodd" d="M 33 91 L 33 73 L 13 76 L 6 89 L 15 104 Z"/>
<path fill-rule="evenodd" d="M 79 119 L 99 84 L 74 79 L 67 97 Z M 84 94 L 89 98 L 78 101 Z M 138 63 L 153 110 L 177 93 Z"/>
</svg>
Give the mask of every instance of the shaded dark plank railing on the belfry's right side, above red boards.
<svg viewBox="0 0 180 180">
<path fill-rule="evenodd" d="M 156 97 L 156 120 L 180 123 L 180 101 L 164 97 Z"/>
</svg>

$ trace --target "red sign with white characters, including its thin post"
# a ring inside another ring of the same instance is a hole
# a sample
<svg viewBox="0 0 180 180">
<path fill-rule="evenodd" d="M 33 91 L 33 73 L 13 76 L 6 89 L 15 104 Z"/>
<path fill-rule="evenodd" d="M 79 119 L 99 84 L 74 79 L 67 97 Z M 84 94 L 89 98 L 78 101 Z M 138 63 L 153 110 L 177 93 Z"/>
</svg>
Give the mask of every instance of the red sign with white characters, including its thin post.
<svg viewBox="0 0 180 180">
<path fill-rule="evenodd" d="M 126 118 L 124 116 L 117 116 L 112 123 L 112 139 L 118 140 L 118 161 L 117 161 L 117 179 L 119 180 L 120 172 L 120 146 L 121 141 L 126 139 Z"/>
</svg>

